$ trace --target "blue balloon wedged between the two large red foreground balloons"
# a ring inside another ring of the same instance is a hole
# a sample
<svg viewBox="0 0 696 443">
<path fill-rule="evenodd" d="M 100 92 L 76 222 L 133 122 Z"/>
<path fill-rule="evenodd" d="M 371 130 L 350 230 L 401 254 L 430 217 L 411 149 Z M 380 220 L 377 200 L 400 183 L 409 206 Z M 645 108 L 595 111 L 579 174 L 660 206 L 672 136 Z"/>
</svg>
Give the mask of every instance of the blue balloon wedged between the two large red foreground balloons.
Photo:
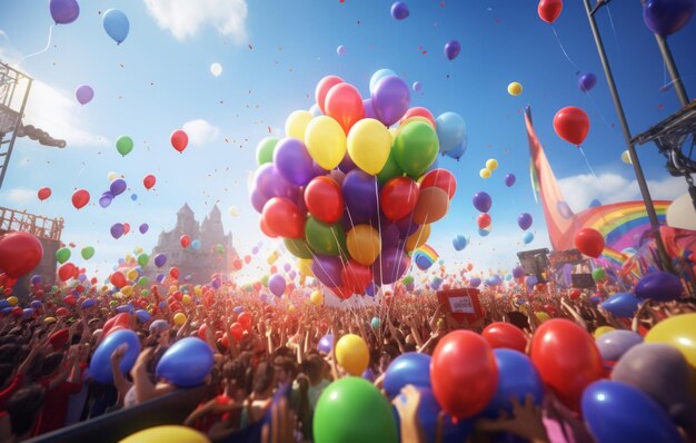
<svg viewBox="0 0 696 443">
<path fill-rule="evenodd" d="M 540 405 L 544 400 L 544 384 L 529 357 L 513 350 L 493 350 L 493 353 L 498 366 L 498 387 L 484 410 L 484 415 L 497 419 L 500 411 L 511 414 L 510 397 L 524 404 L 525 397 L 531 395 L 534 404 Z"/>
</svg>

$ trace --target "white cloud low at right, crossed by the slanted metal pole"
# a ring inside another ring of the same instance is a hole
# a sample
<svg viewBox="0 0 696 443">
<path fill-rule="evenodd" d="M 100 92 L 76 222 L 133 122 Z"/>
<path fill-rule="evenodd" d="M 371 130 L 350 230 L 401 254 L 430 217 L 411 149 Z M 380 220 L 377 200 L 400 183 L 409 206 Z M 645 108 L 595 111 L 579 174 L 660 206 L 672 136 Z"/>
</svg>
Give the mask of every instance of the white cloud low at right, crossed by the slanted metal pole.
<svg viewBox="0 0 696 443">
<path fill-rule="evenodd" d="M 638 183 L 618 174 L 600 174 L 597 178 L 589 174 L 560 178 L 558 186 L 576 213 L 587 209 L 594 199 L 605 205 L 642 199 Z M 682 178 L 665 177 L 662 180 L 648 180 L 648 188 L 653 199 L 672 200 L 686 191 L 686 184 Z"/>
</svg>

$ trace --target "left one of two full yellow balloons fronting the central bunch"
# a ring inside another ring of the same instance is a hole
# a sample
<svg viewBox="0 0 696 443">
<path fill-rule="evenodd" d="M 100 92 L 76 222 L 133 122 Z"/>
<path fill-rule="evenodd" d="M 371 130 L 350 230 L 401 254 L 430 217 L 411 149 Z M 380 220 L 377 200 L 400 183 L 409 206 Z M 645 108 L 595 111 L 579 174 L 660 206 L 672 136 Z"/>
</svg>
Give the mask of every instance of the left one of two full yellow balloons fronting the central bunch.
<svg viewBox="0 0 696 443">
<path fill-rule="evenodd" d="M 346 155 L 346 132 L 331 117 L 315 117 L 305 131 L 305 145 L 311 158 L 324 169 L 331 170 Z"/>
</svg>

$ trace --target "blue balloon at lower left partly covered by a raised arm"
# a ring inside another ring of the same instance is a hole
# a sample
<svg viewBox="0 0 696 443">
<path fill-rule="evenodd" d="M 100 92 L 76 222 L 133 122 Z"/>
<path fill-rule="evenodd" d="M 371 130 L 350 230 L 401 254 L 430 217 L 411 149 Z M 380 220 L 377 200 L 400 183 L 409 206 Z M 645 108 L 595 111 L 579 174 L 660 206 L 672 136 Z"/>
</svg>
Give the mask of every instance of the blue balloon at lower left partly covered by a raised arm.
<svg viewBox="0 0 696 443">
<path fill-rule="evenodd" d="M 140 338 L 138 334 L 130 329 L 116 331 L 107 336 L 103 342 L 95 351 L 92 361 L 89 365 L 89 370 L 92 373 L 92 377 L 101 384 L 112 384 L 113 373 L 111 372 L 111 354 L 122 344 L 128 345 L 126 355 L 119 364 L 119 368 L 123 374 L 128 372 L 136 364 L 138 354 L 140 354 Z"/>
</svg>

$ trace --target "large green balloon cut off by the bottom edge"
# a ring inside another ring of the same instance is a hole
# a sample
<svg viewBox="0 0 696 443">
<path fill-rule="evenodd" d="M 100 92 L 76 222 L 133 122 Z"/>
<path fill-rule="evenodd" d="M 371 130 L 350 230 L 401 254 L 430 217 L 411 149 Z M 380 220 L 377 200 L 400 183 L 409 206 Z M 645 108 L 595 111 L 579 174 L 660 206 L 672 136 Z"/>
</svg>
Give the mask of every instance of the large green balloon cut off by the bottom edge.
<svg viewBox="0 0 696 443">
<path fill-rule="evenodd" d="M 314 417 L 317 443 L 390 443 L 398 441 L 391 405 L 366 380 L 345 377 L 328 385 Z"/>
</svg>

